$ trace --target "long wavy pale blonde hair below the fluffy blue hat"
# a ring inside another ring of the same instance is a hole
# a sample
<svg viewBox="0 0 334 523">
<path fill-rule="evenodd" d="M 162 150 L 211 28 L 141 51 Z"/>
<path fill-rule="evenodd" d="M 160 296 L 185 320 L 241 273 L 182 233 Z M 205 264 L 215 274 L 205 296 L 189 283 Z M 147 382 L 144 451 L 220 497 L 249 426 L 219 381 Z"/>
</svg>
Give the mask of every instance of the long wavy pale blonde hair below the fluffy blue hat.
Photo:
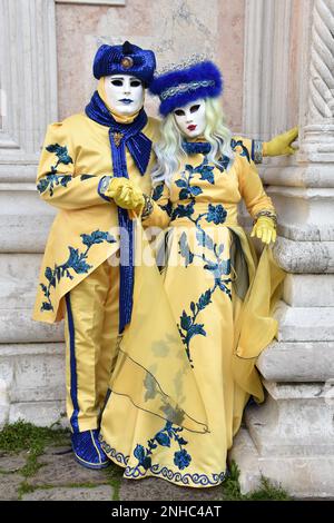
<svg viewBox="0 0 334 523">
<path fill-rule="evenodd" d="M 212 146 L 207 155 L 208 161 L 219 166 L 219 158 L 227 156 L 234 158 L 230 148 L 232 132 L 225 125 L 224 111 L 218 98 L 205 98 L 206 128 L 204 138 Z M 170 112 L 161 120 L 161 138 L 154 146 L 157 162 L 151 171 L 153 184 L 165 181 L 170 187 L 170 180 L 180 168 L 181 161 L 187 154 L 183 149 L 185 137 L 177 127 L 174 114 Z M 230 162 L 229 162 L 230 165 Z"/>
</svg>

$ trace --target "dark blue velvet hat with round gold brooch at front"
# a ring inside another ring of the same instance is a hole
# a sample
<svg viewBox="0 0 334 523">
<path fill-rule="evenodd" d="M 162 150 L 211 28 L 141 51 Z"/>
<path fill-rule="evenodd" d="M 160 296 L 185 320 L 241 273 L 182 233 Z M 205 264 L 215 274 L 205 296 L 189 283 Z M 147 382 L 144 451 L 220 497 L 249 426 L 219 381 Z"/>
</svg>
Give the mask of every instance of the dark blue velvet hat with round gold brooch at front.
<svg viewBox="0 0 334 523">
<path fill-rule="evenodd" d="M 155 53 L 128 41 L 122 46 L 100 46 L 92 66 L 97 79 L 109 75 L 131 75 L 139 78 L 146 87 L 151 82 L 155 69 Z"/>
</svg>

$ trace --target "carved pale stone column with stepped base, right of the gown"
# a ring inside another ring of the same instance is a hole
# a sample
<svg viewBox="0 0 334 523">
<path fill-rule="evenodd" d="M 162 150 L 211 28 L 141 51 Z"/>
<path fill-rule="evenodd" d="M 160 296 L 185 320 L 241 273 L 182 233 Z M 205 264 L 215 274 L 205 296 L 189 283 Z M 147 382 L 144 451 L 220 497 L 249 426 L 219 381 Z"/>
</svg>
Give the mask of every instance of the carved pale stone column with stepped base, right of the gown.
<svg viewBox="0 0 334 523">
<path fill-rule="evenodd" d="M 286 8 L 281 0 L 268 3 Z M 299 3 L 294 13 L 302 19 L 299 43 L 291 47 L 301 56 L 299 67 L 279 72 L 283 86 L 292 86 L 293 77 L 298 85 L 299 152 L 271 160 L 262 171 L 279 216 L 274 254 L 287 272 L 277 308 L 279 333 L 257 363 L 265 404 L 246 409 L 246 427 L 229 457 L 240 467 L 244 492 L 263 474 L 297 497 L 328 497 L 334 496 L 334 0 Z M 292 42 L 288 31 L 281 38 Z M 279 87 L 272 75 L 266 81 Z M 253 87 L 255 98 L 258 88 Z M 267 97 L 273 100 L 263 89 L 262 99 Z M 272 126 L 275 114 L 286 115 L 285 105 L 271 106 Z M 266 130 L 266 121 L 261 115 L 257 131 Z"/>
</svg>

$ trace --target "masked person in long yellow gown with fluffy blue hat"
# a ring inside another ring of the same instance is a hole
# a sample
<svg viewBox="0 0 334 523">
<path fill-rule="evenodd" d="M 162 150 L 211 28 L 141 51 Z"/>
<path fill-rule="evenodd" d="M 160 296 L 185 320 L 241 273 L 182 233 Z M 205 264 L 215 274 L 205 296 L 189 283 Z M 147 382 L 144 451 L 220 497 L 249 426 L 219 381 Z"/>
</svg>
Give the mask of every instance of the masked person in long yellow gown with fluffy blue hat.
<svg viewBox="0 0 334 523">
<path fill-rule="evenodd" d="M 111 393 L 100 442 L 128 478 L 218 485 L 247 401 L 264 399 L 255 363 L 277 333 L 272 313 L 284 277 L 269 248 L 276 213 L 248 149 L 224 124 L 222 88 L 217 67 L 197 59 L 157 76 L 150 86 L 164 120 L 153 197 L 144 195 L 141 219 L 147 229 L 167 230 L 158 237 L 157 260 L 208 430 L 191 432 L 130 404 L 122 411 L 121 398 Z M 125 187 L 119 205 L 131 208 L 128 194 Z M 252 236 L 265 245 L 259 260 L 238 224 L 242 199 L 254 220 Z M 158 328 L 148 319 L 147 329 Z M 143 346 L 143 334 L 138 325 L 135 344 Z M 168 354 L 165 359 L 177 379 L 178 367 Z"/>
</svg>

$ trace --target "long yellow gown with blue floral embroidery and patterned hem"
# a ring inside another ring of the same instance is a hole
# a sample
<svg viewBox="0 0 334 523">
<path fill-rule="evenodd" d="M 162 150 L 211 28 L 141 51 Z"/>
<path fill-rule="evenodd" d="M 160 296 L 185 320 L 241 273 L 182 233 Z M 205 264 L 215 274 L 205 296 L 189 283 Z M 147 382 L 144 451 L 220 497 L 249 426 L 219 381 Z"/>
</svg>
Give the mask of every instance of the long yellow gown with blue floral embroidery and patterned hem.
<svg viewBox="0 0 334 523">
<path fill-rule="evenodd" d="M 268 247 L 257 262 L 238 225 L 237 205 L 243 198 L 253 217 L 274 207 L 249 155 L 238 148 L 228 170 L 209 165 L 204 155 L 188 156 L 170 186 L 158 184 L 153 198 L 154 210 L 144 225 L 167 227 L 157 239 L 157 260 L 208 430 L 159 418 L 145 411 L 145 402 L 137 408 L 112 393 L 111 378 L 100 442 L 125 467 L 125 477 L 214 486 L 224 481 L 227 451 L 249 395 L 264 398 L 255 363 L 277 332 L 272 313 L 284 277 Z M 139 302 L 149 309 L 151 294 L 145 288 Z M 150 319 L 131 322 L 129 347 L 158 338 L 160 326 Z M 178 366 L 168 355 L 165 367 L 169 379 L 177 381 Z M 191 397 L 187 399 L 190 413 Z"/>
</svg>

